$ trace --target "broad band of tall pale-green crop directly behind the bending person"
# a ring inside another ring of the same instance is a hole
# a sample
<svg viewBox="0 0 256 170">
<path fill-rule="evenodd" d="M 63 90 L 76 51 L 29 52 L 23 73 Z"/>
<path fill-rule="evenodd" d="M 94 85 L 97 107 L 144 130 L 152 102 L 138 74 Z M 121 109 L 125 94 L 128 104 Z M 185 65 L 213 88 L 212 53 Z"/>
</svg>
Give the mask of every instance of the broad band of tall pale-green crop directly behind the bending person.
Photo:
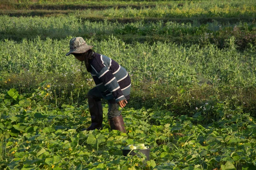
<svg viewBox="0 0 256 170">
<path fill-rule="evenodd" d="M 1 41 L 2 91 L 15 87 L 32 93 L 39 83 L 48 80 L 52 85 L 48 104 L 58 107 L 66 102 L 83 102 L 94 83 L 89 74 L 81 75 L 85 68 L 80 68 L 80 62 L 72 56 L 65 57 L 70 38 Z M 90 39 L 87 43 L 128 70 L 133 82 L 133 104 L 148 100 L 145 105 L 165 106 L 180 113 L 195 109 L 200 100 L 212 101 L 210 96 L 215 96 L 219 102 L 228 100 L 255 114 L 254 47 L 239 52 L 234 39 L 223 50 L 214 45 L 200 48 L 162 42 L 131 45 L 115 37 Z"/>
</svg>

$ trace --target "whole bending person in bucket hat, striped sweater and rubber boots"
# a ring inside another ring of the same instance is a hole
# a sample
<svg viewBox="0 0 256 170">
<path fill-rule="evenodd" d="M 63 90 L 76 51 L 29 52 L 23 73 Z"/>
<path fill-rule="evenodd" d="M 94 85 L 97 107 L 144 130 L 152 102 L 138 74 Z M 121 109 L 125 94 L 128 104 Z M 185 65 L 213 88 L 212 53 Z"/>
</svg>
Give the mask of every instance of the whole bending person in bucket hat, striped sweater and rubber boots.
<svg viewBox="0 0 256 170">
<path fill-rule="evenodd" d="M 128 72 L 113 59 L 94 52 L 82 37 L 70 40 L 70 51 L 66 56 L 73 54 L 76 59 L 85 63 L 86 70 L 92 75 L 96 87 L 88 92 L 88 104 L 91 125 L 87 129 L 102 128 L 103 110 L 101 99 L 108 100 L 108 122 L 112 130 L 125 132 L 121 108 L 130 98 L 131 79 Z"/>
</svg>

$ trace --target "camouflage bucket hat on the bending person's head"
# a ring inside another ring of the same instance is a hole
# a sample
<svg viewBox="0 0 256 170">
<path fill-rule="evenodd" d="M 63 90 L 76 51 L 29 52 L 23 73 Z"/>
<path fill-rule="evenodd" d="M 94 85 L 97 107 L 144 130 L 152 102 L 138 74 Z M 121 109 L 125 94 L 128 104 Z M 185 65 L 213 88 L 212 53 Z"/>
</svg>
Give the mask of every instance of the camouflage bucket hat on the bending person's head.
<svg viewBox="0 0 256 170">
<path fill-rule="evenodd" d="M 70 52 L 66 56 L 72 53 L 85 53 L 93 46 L 87 45 L 82 37 L 75 37 L 70 40 Z"/>
</svg>

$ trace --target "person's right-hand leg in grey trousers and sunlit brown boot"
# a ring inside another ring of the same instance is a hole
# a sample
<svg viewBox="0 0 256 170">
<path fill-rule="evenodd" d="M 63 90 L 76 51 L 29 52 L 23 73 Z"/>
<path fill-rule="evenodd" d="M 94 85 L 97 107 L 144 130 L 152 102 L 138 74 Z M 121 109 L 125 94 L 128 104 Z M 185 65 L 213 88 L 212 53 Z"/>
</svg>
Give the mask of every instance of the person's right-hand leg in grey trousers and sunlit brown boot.
<svg viewBox="0 0 256 170">
<path fill-rule="evenodd" d="M 121 111 L 118 110 L 119 105 L 108 101 L 108 122 L 112 130 L 119 130 L 125 132 L 125 123 L 121 115 Z"/>
</svg>

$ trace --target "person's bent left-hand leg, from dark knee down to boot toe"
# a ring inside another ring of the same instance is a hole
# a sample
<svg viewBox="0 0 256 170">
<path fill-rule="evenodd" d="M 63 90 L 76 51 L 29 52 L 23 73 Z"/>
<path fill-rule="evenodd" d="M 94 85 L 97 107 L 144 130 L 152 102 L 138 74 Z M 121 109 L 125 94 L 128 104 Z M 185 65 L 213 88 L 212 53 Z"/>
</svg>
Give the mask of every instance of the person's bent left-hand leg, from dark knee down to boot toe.
<svg viewBox="0 0 256 170">
<path fill-rule="evenodd" d="M 102 110 L 102 95 L 96 87 L 90 89 L 87 94 L 88 104 L 91 116 L 91 125 L 87 129 L 82 130 L 94 130 L 102 128 L 103 110 Z"/>
</svg>

